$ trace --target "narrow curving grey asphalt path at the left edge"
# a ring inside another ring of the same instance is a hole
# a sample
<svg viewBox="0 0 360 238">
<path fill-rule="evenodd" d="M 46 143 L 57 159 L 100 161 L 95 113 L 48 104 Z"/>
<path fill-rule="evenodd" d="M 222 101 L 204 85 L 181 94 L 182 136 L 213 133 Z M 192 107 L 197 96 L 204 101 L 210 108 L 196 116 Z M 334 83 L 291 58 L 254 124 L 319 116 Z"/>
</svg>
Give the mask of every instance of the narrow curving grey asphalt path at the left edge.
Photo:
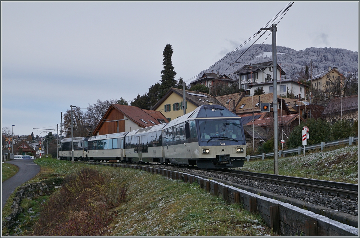
<svg viewBox="0 0 360 238">
<path fill-rule="evenodd" d="M 35 177 L 36 174 L 40 172 L 40 166 L 35 164 L 33 160 L 10 160 L 5 161 L 3 166 L 6 164 L 14 164 L 19 167 L 19 171 L 13 177 L 5 180 L 3 182 L 3 205 L 4 207 L 6 200 L 14 192 L 15 188 L 19 187 L 21 184 Z"/>
</svg>

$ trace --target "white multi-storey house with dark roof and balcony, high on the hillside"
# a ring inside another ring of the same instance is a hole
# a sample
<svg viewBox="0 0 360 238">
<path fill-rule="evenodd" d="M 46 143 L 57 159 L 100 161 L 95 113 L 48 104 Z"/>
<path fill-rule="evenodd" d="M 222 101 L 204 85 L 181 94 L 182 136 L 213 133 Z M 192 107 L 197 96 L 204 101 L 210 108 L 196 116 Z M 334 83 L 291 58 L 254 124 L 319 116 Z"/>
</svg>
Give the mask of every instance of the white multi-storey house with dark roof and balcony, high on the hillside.
<svg viewBox="0 0 360 238">
<path fill-rule="evenodd" d="M 235 71 L 234 74 L 239 75 L 239 88 L 247 90 L 252 88 L 252 84 L 273 81 L 273 61 L 244 65 Z M 285 72 L 280 68 L 279 64 L 277 64 L 276 77 L 278 80 L 281 79 L 281 75 L 285 75 Z M 253 95 L 253 93 L 250 94 Z"/>
</svg>

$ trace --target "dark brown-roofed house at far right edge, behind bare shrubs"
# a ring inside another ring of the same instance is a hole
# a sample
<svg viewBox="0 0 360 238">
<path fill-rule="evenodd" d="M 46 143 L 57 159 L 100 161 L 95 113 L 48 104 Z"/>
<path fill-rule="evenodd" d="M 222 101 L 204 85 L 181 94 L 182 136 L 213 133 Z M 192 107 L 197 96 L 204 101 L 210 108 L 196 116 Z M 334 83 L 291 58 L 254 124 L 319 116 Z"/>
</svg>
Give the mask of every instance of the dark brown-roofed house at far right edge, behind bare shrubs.
<svg viewBox="0 0 360 238">
<path fill-rule="evenodd" d="M 339 120 L 348 120 L 351 123 L 358 120 L 358 96 L 335 97 L 330 99 L 325 107 L 322 116 L 329 123 Z"/>
</svg>

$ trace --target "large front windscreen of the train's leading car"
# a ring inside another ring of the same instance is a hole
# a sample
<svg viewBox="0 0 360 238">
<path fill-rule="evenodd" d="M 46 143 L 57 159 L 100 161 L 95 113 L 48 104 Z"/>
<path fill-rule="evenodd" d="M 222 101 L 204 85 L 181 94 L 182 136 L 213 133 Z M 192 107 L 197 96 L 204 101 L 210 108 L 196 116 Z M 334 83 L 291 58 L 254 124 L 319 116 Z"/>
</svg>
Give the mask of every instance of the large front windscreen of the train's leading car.
<svg viewBox="0 0 360 238">
<path fill-rule="evenodd" d="M 199 120 L 201 141 L 243 140 L 239 119 Z"/>
</svg>

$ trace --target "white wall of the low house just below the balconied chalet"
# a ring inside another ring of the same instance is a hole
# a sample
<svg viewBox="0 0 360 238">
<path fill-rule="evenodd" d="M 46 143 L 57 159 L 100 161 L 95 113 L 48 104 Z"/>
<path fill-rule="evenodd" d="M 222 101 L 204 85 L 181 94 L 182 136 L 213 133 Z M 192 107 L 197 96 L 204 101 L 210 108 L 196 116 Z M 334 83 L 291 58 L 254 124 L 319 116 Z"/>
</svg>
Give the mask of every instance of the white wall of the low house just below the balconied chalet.
<svg viewBox="0 0 360 238">
<path fill-rule="evenodd" d="M 254 91 L 256 88 L 263 88 L 264 92 L 265 93 L 273 93 L 273 91 L 271 91 L 272 87 L 273 87 L 273 84 L 264 84 L 264 85 L 257 85 L 257 86 L 253 86 L 250 90 L 250 94 L 251 95 L 254 95 Z M 271 87 L 271 88 L 270 88 Z M 296 84 L 294 82 L 283 82 L 281 83 L 280 85 L 280 82 L 278 81 L 278 95 L 286 95 L 286 91 L 287 91 L 287 88 L 289 88 L 289 93 L 294 93 L 294 95 L 298 95 L 300 93 L 301 95 L 301 98 L 305 97 L 305 90 L 304 90 L 304 85 L 300 84 L 300 87 L 299 87 L 299 84 Z"/>
</svg>

